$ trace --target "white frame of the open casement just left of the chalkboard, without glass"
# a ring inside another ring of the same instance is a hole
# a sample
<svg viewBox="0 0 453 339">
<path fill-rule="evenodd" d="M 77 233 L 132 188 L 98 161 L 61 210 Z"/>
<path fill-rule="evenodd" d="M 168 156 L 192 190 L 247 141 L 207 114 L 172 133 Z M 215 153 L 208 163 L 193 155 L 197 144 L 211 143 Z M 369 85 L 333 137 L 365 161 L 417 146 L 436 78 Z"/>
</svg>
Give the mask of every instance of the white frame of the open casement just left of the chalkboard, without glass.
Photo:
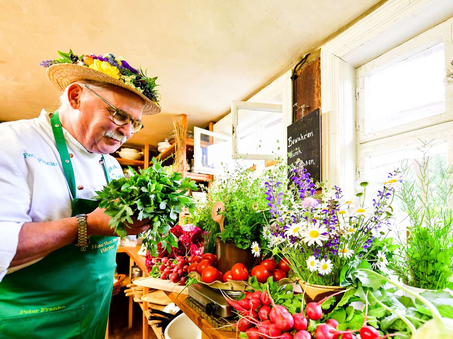
<svg viewBox="0 0 453 339">
<path fill-rule="evenodd" d="M 231 113 L 232 113 L 232 152 L 233 152 L 233 159 L 251 159 L 251 160 L 274 160 L 276 154 L 247 154 L 247 153 L 239 153 L 237 151 L 237 145 L 241 135 L 238 133 L 238 110 L 239 109 L 247 109 L 251 111 L 257 112 L 279 112 L 282 113 L 282 126 L 284 127 L 283 123 L 283 108 L 282 105 L 278 104 L 264 104 L 264 103 L 253 103 L 248 101 L 231 101 Z M 259 113 L 258 113 L 259 114 Z M 286 128 L 286 127 L 285 127 Z M 282 140 L 283 142 L 283 140 Z"/>
</svg>

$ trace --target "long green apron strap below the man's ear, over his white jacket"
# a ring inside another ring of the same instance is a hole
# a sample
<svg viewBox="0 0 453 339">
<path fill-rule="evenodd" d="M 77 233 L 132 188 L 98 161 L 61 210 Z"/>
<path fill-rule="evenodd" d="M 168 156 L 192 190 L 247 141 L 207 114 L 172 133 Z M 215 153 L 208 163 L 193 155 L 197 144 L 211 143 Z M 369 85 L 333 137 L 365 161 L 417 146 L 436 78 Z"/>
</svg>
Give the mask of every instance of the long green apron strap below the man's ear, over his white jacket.
<svg viewBox="0 0 453 339">
<path fill-rule="evenodd" d="M 58 118 L 58 110 L 50 117 L 50 124 L 52 125 L 53 137 L 55 137 L 58 154 L 60 155 L 61 164 L 63 165 L 64 176 L 69 185 L 72 200 L 74 200 L 76 198 L 76 179 L 74 177 L 74 170 L 72 169 L 71 157 L 69 156 L 66 141 L 64 140 L 63 128 L 61 127 L 60 118 Z"/>
</svg>

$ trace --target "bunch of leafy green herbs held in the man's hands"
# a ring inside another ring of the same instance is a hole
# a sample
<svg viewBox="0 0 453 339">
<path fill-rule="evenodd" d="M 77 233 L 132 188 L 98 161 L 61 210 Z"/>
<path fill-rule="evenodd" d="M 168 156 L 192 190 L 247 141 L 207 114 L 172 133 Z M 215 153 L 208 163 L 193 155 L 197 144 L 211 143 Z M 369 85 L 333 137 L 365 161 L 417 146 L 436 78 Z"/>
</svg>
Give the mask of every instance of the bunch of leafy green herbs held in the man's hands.
<svg viewBox="0 0 453 339">
<path fill-rule="evenodd" d="M 196 189 L 195 182 L 182 178 L 179 173 L 167 173 L 161 163 L 153 158 L 153 165 L 138 174 L 129 167 L 133 175 L 130 178 L 112 180 L 102 191 L 97 191 L 95 199 L 99 207 L 111 217 L 110 227 L 120 237 L 127 235 L 126 227 L 138 220 L 149 219 L 151 228 L 143 243 L 157 256 L 157 244 L 160 242 L 170 253 L 171 246 L 177 242 L 169 232 L 170 225 L 178 219 L 178 213 L 187 207 L 192 213 L 195 202 L 184 195 L 190 189 Z"/>
</svg>

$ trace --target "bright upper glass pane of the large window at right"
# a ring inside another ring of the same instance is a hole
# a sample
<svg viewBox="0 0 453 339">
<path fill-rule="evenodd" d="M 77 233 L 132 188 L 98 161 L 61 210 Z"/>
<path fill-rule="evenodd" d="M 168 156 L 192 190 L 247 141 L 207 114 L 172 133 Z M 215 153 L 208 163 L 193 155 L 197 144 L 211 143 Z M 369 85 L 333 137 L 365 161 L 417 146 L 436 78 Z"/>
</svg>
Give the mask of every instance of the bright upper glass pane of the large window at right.
<svg viewBox="0 0 453 339">
<path fill-rule="evenodd" d="M 445 112 L 443 42 L 369 76 L 366 133 Z"/>
</svg>

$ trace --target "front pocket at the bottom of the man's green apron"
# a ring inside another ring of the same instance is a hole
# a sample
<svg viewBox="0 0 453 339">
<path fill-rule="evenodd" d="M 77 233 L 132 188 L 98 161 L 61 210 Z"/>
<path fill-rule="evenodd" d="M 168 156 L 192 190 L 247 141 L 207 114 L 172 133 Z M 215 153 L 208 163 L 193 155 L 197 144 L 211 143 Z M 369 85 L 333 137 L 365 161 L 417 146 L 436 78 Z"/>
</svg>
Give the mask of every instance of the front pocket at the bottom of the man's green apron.
<svg viewBox="0 0 453 339">
<path fill-rule="evenodd" d="M 80 338 L 83 306 L 0 319 L 3 338 Z"/>
</svg>

